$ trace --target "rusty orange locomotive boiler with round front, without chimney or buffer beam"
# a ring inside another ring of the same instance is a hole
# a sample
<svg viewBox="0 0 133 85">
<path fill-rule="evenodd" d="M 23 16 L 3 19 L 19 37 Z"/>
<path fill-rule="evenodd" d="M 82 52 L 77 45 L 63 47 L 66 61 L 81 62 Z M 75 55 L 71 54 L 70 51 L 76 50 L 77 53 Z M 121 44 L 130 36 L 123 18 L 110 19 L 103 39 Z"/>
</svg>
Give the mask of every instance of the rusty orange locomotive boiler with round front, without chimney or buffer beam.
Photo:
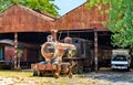
<svg viewBox="0 0 133 85">
<path fill-rule="evenodd" d="M 76 47 L 73 44 L 61 42 L 45 42 L 41 47 L 41 54 L 48 63 L 62 62 L 62 56 L 73 56 Z"/>
</svg>

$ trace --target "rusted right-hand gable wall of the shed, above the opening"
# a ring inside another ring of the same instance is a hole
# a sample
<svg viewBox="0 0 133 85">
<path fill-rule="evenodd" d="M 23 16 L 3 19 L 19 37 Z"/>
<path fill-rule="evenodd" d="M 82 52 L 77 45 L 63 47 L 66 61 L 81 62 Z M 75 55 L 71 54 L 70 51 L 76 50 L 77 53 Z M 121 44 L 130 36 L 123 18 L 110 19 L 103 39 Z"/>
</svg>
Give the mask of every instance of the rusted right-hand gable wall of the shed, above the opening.
<svg viewBox="0 0 133 85">
<path fill-rule="evenodd" d="M 103 6 L 101 9 L 93 8 L 89 10 L 84 4 L 68 12 L 57 20 L 57 28 L 59 30 L 86 30 L 98 28 L 98 30 L 106 31 L 108 28 L 102 24 L 108 20 L 108 14 L 101 14 L 102 10 L 109 7 Z"/>
</svg>

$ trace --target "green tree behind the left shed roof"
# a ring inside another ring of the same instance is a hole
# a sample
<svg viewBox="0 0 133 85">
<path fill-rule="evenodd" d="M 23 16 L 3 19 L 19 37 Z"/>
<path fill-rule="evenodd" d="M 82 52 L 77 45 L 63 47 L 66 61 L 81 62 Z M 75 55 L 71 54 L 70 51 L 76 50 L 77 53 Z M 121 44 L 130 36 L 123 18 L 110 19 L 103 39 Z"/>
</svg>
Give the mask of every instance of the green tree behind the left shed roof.
<svg viewBox="0 0 133 85">
<path fill-rule="evenodd" d="M 0 0 L 0 11 L 4 11 L 13 3 L 19 3 L 39 12 L 47 12 L 59 17 L 59 8 L 53 3 L 54 0 Z"/>
</svg>

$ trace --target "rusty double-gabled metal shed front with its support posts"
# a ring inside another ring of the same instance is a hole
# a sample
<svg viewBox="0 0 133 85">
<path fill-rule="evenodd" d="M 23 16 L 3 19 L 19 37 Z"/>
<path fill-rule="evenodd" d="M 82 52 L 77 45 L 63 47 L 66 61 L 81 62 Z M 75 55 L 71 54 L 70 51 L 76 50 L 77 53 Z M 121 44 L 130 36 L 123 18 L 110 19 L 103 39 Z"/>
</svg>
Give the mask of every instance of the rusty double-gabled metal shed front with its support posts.
<svg viewBox="0 0 133 85">
<path fill-rule="evenodd" d="M 14 63 L 17 63 L 18 41 L 38 41 L 38 38 L 44 36 L 44 32 L 51 30 L 92 32 L 94 33 L 92 38 L 94 38 L 95 64 L 98 65 L 98 32 L 102 32 L 102 34 L 109 32 L 109 29 L 102 24 L 108 20 L 108 15 L 101 14 L 101 10 L 108 8 L 108 6 L 103 6 L 101 9 L 89 10 L 83 3 L 57 19 L 48 13 L 40 13 L 21 4 L 13 4 L 0 13 L 0 39 L 4 39 L 6 35 L 14 40 Z M 7 35 L 7 33 L 9 34 Z M 33 36 L 28 39 L 30 35 Z"/>
</svg>

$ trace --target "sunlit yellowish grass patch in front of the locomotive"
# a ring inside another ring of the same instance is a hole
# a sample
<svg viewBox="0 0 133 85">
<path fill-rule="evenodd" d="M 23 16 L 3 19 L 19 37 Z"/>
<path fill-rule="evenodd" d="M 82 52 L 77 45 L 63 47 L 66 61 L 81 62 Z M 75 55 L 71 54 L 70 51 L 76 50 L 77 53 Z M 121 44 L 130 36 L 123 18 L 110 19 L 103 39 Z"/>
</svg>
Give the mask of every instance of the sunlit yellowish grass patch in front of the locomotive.
<svg viewBox="0 0 133 85">
<path fill-rule="evenodd" d="M 69 78 L 68 76 L 60 76 L 59 78 L 54 78 L 32 76 L 32 71 L 0 70 L 0 76 L 4 76 L 4 79 L 7 79 L 7 77 L 11 77 L 11 81 L 14 79 L 13 84 L 10 85 L 99 85 L 99 82 L 101 82 L 89 77 L 73 76 L 73 78 Z M 3 78 L 1 78 L 1 82 L 2 79 Z M 104 84 L 104 82 L 102 82 L 101 85 Z M 106 83 L 106 85 L 110 85 L 110 83 Z"/>
</svg>

